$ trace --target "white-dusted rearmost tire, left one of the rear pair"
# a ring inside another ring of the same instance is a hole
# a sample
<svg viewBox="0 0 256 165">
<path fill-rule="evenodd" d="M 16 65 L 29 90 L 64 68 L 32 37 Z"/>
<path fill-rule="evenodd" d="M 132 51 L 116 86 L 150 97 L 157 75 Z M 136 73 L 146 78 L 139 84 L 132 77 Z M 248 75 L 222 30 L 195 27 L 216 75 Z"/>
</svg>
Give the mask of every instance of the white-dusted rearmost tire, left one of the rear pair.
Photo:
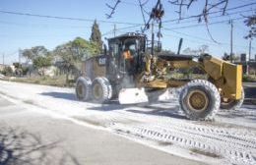
<svg viewBox="0 0 256 165">
<path fill-rule="evenodd" d="M 91 99 L 92 81 L 87 77 L 80 77 L 76 83 L 76 96 L 79 100 L 88 101 Z"/>
</svg>

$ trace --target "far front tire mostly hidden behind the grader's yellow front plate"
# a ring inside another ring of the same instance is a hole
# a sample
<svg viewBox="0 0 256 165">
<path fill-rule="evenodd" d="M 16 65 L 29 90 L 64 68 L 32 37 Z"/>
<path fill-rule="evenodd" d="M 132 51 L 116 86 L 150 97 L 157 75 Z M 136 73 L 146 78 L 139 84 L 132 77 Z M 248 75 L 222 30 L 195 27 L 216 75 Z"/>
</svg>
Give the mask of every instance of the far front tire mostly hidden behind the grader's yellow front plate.
<svg viewBox="0 0 256 165">
<path fill-rule="evenodd" d="M 239 100 L 228 100 L 221 103 L 221 108 L 225 110 L 237 110 L 242 106 L 244 100 L 244 89 L 242 87 L 242 97 Z"/>
</svg>

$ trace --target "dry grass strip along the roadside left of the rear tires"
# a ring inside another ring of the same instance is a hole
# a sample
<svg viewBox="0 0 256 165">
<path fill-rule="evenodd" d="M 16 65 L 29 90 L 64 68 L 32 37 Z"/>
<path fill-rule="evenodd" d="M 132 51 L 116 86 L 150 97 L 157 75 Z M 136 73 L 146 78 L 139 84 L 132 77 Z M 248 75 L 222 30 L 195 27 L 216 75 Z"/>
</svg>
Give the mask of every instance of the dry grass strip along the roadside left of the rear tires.
<svg viewBox="0 0 256 165">
<path fill-rule="evenodd" d="M 11 82 L 18 82 L 18 83 L 36 83 L 36 84 L 44 84 L 44 85 L 53 85 L 53 86 L 73 86 L 74 83 L 67 83 L 66 76 L 57 76 L 57 77 L 28 77 L 28 78 L 16 78 L 10 80 Z"/>
</svg>

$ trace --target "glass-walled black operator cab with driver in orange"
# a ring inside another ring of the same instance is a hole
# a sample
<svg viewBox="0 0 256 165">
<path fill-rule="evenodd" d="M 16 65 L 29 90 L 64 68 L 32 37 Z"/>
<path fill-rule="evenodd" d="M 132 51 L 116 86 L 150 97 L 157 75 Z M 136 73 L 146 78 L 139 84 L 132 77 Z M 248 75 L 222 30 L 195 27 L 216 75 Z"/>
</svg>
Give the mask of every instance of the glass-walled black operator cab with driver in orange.
<svg viewBox="0 0 256 165">
<path fill-rule="evenodd" d="M 108 39 L 106 75 L 119 82 L 125 76 L 133 77 L 143 71 L 146 35 L 126 33 Z"/>
</svg>

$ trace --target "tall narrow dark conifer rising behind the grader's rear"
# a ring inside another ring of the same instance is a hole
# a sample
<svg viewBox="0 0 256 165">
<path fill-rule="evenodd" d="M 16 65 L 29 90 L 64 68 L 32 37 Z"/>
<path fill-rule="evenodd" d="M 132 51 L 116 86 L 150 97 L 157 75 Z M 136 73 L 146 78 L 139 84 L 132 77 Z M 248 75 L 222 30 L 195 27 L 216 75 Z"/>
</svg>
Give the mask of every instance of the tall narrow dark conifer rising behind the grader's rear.
<svg viewBox="0 0 256 165">
<path fill-rule="evenodd" d="M 102 52 L 102 40 L 101 40 L 101 32 L 99 30 L 99 27 L 95 21 L 93 27 L 92 27 L 92 34 L 91 34 L 91 37 L 90 37 L 90 41 L 91 42 L 95 42 L 97 47 L 98 47 L 98 50 L 99 52 L 101 53 Z"/>
</svg>

